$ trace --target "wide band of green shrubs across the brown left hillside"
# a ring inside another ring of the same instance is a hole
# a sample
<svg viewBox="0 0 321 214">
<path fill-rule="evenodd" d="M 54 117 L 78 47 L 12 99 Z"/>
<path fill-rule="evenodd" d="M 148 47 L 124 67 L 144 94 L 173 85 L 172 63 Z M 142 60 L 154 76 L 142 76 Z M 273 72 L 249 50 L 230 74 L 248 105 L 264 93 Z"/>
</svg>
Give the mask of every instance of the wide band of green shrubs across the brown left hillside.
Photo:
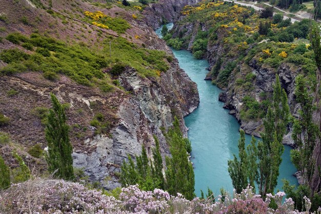
<svg viewBox="0 0 321 214">
<path fill-rule="evenodd" d="M 21 42 L 31 44 L 36 47 L 36 52 L 27 54 L 17 48 L 3 50 L 0 59 L 9 64 L 0 70 L 0 73 L 4 74 L 42 71 L 46 79 L 56 80 L 57 73 L 63 73 L 79 84 L 94 85 L 97 82 L 94 80 L 105 79 L 102 69 L 114 63 L 121 62 L 123 65 L 133 67 L 143 76 L 157 76 L 157 72 L 166 72 L 169 68 L 164 51 L 139 48 L 123 37 L 109 37 L 104 42 L 104 50 L 66 45 L 35 33 L 31 34 L 30 38 L 19 33 L 11 33 L 7 36 L 7 40 L 15 44 Z M 109 52 L 109 42 L 112 49 L 111 58 L 104 54 Z"/>
</svg>

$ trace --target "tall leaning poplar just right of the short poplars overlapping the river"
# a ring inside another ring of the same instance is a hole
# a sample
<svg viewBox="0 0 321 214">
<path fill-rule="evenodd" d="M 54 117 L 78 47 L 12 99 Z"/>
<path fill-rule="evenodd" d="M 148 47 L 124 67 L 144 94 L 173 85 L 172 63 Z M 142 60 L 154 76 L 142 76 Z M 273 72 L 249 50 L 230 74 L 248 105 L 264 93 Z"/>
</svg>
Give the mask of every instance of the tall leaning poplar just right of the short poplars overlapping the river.
<svg viewBox="0 0 321 214">
<path fill-rule="evenodd" d="M 279 165 L 282 162 L 284 146 L 283 137 L 287 130 L 290 118 L 290 108 L 287 94 L 281 88 L 278 75 L 273 86 L 273 102 L 268 108 L 266 119 L 264 120 L 264 133 L 262 142 L 257 145 L 258 172 L 256 183 L 259 194 L 263 197 L 267 193 L 273 193 L 277 185 L 279 175 Z"/>
</svg>

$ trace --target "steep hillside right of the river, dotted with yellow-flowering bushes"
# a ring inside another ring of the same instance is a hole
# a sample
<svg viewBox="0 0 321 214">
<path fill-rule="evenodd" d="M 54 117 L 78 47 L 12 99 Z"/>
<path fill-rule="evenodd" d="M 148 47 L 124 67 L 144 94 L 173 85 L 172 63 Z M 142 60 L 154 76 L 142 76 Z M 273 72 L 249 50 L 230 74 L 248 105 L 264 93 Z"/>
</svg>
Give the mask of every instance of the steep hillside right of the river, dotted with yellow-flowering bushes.
<svg viewBox="0 0 321 214">
<path fill-rule="evenodd" d="M 202 1 L 184 8 L 165 39 L 176 49 L 185 48 L 198 59 L 208 59 L 206 80 L 225 90 L 219 99 L 241 128 L 259 136 L 275 74 L 294 114 L 298 108 L 295 77 L 303 74 L 311 87 L 315 86 L 314 53 L 307 40 L 309 25 L 309 20 L 291 24 L 282 15 L 263 17 L 253 8 Z M 290 134 L 285 143 L 292 144 Z"/>
</svg>

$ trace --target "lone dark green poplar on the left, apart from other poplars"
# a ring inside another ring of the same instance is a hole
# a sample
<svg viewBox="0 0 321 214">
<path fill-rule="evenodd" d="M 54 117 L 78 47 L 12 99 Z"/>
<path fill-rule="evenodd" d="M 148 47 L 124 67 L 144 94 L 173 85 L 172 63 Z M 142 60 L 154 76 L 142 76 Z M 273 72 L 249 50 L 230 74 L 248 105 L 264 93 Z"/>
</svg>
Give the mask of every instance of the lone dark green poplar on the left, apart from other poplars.
<svg viewBox="0 0 321 214">
<path fill-rule="evenodd" d="M 46 161 L 51 173 L 65 180 L 74 178 L 72 166 L 72 145 L 69 141 L 69 126 L 66 123 L 65 108 L 53 93 L 50 93 L 52 108 L 47 116 L 45 134 L 48 142 Z"/>
</svg>

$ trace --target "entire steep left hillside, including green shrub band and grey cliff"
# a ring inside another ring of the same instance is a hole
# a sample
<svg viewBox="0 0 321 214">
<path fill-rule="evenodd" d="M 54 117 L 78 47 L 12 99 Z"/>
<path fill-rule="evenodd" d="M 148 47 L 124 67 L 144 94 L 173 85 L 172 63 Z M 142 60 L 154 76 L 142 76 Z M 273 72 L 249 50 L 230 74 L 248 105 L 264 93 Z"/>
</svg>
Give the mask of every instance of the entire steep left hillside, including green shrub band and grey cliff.
<svg viewBox="0 0 321 214">
<path fill-rule="evenodd" d="M 105 188 L 118 185 L 127 154 L 151 152 L 153 135 L 168 154 L 163 128 L 197 107 L 196 85 L 146 23 L 145 6 L 104 2 L 0 4 L 0 152 L 11 167 L 16 149 L 46 169 L 28 150 L 46 147 L 50 92 L 66 106 L 74 166 Z"/>
</svg>

